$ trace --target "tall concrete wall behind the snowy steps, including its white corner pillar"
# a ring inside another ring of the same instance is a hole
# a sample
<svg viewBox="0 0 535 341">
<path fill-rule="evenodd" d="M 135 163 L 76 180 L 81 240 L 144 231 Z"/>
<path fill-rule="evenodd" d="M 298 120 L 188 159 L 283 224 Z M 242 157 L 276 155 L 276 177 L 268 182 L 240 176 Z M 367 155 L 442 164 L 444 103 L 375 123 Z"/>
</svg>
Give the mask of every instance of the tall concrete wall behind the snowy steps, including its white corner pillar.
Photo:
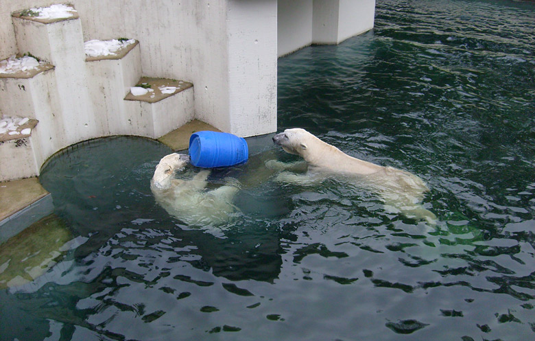
<svg viewBox="0 0 535 341">
<path fill-rule="evenodd" d="M 143 75 L 192 82 L 196 118 L 242 137 L 276 130 L 276 0 L 68 2 L 84 40 L 135 38 Z M 52 3 L 0 1 L 0 59 L 19 52 L 10 14 Z"/>
</svg>

